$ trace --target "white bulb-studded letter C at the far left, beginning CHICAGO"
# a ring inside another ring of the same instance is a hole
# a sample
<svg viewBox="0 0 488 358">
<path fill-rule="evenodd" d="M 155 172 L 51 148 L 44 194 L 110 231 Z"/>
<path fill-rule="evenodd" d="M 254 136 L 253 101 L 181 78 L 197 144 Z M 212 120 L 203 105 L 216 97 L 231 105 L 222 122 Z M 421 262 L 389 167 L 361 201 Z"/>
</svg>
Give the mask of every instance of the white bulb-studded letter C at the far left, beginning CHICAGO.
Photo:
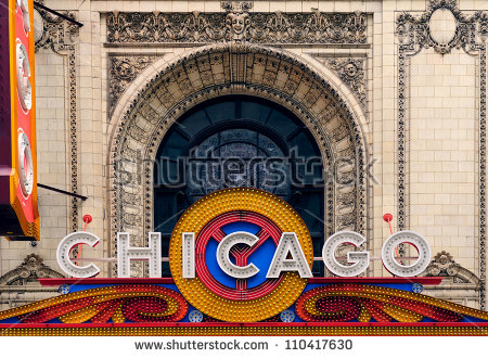
<svg viewBox="0 0 488 358">
<path fill-rule="evenodd" d="M 86 279 L 97 276 L 100 272 L 97 266 L 94 266 L 93 264 L 87 266 L 76 266 L 69 259 L 69 252 L 76 245 L 87 244 L 91 247 L 94 247 L 99 242 L 100 239 L 90 232 L 78 231 L 68 234 L 63 240 L 61 240 L 60 244 L 57 245 L 57 265 L 60 265 L 64 272 L 73 276 L 74 278 Z"/>
</svg>

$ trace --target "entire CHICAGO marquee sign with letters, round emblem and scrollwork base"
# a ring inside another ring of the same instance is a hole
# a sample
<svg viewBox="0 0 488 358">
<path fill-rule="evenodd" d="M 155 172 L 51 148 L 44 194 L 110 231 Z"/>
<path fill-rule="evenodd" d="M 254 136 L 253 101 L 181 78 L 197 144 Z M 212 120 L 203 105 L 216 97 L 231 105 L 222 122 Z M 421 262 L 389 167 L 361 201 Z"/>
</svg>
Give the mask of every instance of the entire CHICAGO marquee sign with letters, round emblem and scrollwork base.
<svg viewBox="0 0 488 358">
<path fill-rule="evenodd" d="M 160 234 L 147 247 L 118 233 L 118 278 L 92 278 L 94 264 L 76 266 L 69 251 L 94 246 L 88 232 L 64 238 L 60 266 L 73 279 L 41 279 L 62 295 L 0 312 L 0 335 L 479 335 L 488 312 L 422 295 L 441 278 L 415 277 L 431 260 L 428 242 L 401 231 L 383 245 L 383 264 L 397 277 L 358 278 L 369 265 L 365 239 L 343 231 L 329 238 L 322 261 L 336 277 L 313 278 L 310 234 L 281 199 L 256 189 L 227 189 L 193 204 L 169 242 L 172 278 L 160 278 Z M 419 251 L 410 266 L 394 255 L 399 243 Z M 349 265 L 335 257 L 358 247 Z M 151 278 L 131 279 L 130 260 L 146 259 Z"/>
</svg>

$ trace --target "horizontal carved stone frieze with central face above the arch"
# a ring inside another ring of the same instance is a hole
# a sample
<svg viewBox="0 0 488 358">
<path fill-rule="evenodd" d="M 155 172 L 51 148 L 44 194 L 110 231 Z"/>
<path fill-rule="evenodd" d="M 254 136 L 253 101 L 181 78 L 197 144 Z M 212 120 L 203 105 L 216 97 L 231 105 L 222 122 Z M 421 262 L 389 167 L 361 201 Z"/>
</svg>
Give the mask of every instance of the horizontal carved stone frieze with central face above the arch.
<svg viewBox="0 0 488 358">
<path fill-rule="evenodd" d="M 249 41 L 255 43 L 367 43 L 365 13 L 252 13 L 248 7 L 224 7 L 228 13 L 112 12 L 106 14 L 107 42 Z"/>
</svg>

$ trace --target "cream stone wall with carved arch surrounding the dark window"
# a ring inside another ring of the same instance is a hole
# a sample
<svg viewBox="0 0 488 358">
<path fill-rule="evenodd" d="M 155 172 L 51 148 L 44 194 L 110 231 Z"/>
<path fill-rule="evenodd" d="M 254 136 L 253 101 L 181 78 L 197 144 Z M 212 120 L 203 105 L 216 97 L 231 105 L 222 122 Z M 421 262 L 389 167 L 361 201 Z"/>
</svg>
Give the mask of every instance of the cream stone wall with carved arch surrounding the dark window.
<svg viewBox="0 0 488 358">
<path fill-rule="evenodd" d="M 69 230 L 93 215 L 88 230 L 102 239 L 93 255 L 114 258 L 118 231 L 143 245 L 154 229 L 152 161 L 171 125 L 204 101 L 245 94 L 291 111 L 313 135 L 329 175 L 319 218 L 326 236 L 357 230 L 377 257 L 389 235 L 382 215 L 391 213 L 394 230 L 419 230 L 440 253 L 425 274 L 446 284 L 424 292 L 459 301 L 465 290 L 485 308 L 484 1 L 43 3 L 84 26 L 39 11 L 42 68 L 54 75 L 60 55 L 65 65 L 66 91 L 56 94 L 68 104 L 56 118 L 66 130 L 55 135 L 69 155 L 51 149 L 38 161 L 47 181 L 65 171 L 67 189 L 89 197 L 69 200 L 66 212 Z M 42 225 L 60 226 L 55 214 Z M 59 235 L 35 247 L 0 242 L 0 276 L 31 253 L 56 270 Z M 113 264 L 100 265 L 114 274 Z M 368 276 L 388 273 L 373 260 Z M 22 301 L 12 292 L 4 305 Z"/>
</svg>

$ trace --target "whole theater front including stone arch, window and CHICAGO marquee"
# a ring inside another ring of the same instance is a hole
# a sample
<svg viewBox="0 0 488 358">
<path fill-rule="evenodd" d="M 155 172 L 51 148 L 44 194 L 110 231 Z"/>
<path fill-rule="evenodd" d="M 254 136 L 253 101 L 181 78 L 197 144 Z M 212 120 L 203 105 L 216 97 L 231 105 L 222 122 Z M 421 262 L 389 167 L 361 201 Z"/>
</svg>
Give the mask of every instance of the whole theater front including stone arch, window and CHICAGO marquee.
<svg viewBox="0 0 488 358">
<path fill-rule="evenodd" d="M 39 230 L 2 232 L 0 324 L 480 334 L 485 1 L 28 3 Z"/>
</svg>

